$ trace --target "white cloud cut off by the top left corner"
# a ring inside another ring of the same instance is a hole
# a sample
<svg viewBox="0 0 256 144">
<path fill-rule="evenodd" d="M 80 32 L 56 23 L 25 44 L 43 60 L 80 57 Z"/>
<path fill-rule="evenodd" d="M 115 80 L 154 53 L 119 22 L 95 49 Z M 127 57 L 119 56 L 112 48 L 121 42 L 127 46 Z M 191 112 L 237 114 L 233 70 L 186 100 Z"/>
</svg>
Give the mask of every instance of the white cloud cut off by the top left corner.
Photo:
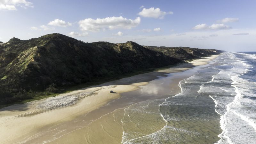
<svg viewBox="0 0 256 144">
<path fill-rule="evenodd" d="M 26 0 L 0 0 L 0 10 L 17 11 L 16 6 L 22 8 L 34 7 L 33 3 Z"/>
</svg>

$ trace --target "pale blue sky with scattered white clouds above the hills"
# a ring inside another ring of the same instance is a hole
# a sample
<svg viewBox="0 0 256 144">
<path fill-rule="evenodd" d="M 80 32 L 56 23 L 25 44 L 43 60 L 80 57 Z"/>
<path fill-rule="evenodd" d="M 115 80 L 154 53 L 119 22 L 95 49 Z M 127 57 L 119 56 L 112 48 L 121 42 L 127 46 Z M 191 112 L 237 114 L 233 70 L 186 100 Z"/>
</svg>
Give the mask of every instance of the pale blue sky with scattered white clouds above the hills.
<svg viewBox="0 0 256 144">
<path fill-rule="evenodd" d="M 256 51 L 255 0 L 0 0 L 0 41 L 60 33 L 84 42 Z"/>
</svg>

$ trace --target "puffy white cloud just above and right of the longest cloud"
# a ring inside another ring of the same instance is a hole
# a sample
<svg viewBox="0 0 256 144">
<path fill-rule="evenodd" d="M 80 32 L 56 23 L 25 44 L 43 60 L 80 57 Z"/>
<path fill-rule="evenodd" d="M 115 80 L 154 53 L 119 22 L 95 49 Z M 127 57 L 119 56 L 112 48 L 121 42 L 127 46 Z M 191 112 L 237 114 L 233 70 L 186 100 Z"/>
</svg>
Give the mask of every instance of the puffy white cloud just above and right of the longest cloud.
<svg viewBox="0 0 256 144">
<path fill-rule="evenodd" d="M 138 14 L 147 18 L 163 19 L 166 14 L 173 14 L 173 12 L 163 12 L 160 8 L 155 9 L 154 7 L 151 7 L 149 9 L 143 8 Z"/>
</svg>

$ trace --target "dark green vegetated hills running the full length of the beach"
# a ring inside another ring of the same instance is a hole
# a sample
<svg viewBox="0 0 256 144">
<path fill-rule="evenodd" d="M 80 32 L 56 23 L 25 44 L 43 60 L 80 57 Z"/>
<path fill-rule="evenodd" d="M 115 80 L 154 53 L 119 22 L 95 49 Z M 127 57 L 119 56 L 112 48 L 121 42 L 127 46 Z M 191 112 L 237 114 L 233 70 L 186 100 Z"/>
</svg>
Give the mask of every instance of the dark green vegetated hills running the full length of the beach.
<svg viewBox="0 0 256 144">
<path fill-rule="evenodd" d="M 162 52 L 160 47 L 147 49 L 130 41 L 84 43 L 56 33 L 30 40 L 12 38 L 0 45 L 0 103 L 54 96 L 72 90 L 70 86 L 88 86 L 220 53 L 186 48 L 194 52 L 191 56 L 183 48 L 175 48 L 176 53 L 171 49 Z"/>
</svg>

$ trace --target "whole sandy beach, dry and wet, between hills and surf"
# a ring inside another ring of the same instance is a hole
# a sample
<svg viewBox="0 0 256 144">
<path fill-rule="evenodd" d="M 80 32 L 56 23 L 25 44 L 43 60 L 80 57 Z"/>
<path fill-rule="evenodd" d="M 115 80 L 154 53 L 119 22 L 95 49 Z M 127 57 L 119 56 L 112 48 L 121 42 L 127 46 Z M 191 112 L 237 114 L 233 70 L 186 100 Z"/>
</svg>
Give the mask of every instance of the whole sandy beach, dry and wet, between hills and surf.
<svg viewBox="0 0 256 144">
<path fill-rule="evenodd" d="M 166 98 L 152 80 L 205 65 L 217 56 L 2 108 L 0 143 L 121 143 L 124 129 L 130 128 L 122 123 L 126 110 L 141 101 Z M 185 77 L 173 76 L 166 85 L 171 88 L 169 95 L 180 92 L 178 84 Z M 109 93 L 110 90 L 116 93 Z M 145 96 L 132 94 L 138 90 L 145 92 Z M 150 96 L 154 92 L 158 92 L 159 97 Z M 145 103 L 147 105 L 149 103 Z M 165 124 L 157 116 L 154 122 L 156 127 L 147 132 L 156 132 Z M 143 127 L 147 128 L 146 123 Z"/>
</svg>

